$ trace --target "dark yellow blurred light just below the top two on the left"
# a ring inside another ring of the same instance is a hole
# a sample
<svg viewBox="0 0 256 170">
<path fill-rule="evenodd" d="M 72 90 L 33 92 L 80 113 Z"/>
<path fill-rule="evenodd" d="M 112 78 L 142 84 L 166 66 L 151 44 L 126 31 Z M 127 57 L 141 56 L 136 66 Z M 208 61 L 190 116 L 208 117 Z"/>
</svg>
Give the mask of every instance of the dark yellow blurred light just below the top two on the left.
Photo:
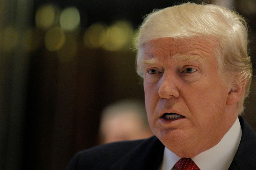
<svg viewBox="0 0 256 170">
<path fill-rule="evenodd" d="M 60 27 L 52 27 L 45 33 L 44 43 L 49 51 L 59 50 L 65 43 L 65 34 Z"/>
</svg>

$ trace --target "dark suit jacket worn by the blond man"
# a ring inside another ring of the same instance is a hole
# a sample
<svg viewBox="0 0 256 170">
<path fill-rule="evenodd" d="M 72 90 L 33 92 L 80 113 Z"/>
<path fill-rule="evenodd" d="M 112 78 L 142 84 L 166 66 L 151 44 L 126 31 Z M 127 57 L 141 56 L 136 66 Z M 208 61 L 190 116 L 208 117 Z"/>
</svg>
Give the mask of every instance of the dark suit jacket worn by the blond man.
<svg viewBox="0 0 256 170">
<path fill-rule="evenodd" d="M 244 118 L 239 117 L 239 121 L 242 138 L 229 170 L 256 169 L 256 134 Z M 163 153 L 164 145 L 155 136 L 143 140 L 116 142 L 77 153 L 68 170 L 157 170 Z"/>
</svg>

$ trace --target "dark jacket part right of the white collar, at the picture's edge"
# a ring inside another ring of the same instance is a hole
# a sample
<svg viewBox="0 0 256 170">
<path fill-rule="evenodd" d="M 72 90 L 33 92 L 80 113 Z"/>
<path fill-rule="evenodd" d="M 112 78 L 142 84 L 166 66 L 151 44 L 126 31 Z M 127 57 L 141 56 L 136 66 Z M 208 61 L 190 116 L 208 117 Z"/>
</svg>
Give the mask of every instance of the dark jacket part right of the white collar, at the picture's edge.
<svg viewBox="0 0 256 170">
<path fill-rule="evenodd" d="M 242 137 L 229 170 L 255 169 L 256 134 L 242 116 L 239 116 L 239 121 L 242 128 Z"/>
</svg>

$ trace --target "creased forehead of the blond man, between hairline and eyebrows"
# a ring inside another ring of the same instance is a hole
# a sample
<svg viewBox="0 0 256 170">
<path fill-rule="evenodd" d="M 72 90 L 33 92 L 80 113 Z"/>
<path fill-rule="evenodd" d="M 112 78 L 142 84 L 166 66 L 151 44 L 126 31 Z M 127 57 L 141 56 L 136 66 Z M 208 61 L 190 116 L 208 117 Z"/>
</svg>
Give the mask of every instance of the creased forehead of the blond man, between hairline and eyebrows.
<svg viewBox="0 0 256 170">
<path fill-rule="evenodd" d="M 204 62 L 215 58 L 215 42 L 201 39 L 175 40 L 161 38 L 148 41 L 144 46 L 144 59 L 142 64 L 169 61 Z"/>
</svg>

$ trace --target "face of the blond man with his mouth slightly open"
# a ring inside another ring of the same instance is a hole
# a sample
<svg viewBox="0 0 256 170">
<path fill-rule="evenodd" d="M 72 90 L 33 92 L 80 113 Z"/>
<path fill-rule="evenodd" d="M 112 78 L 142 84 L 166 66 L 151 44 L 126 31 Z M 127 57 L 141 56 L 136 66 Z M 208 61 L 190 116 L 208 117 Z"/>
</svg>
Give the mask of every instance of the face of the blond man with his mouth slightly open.
<svg viewBox="0 0 256 170">
<path fill-rule="evenodd" d="M 216 145 L 237 114 L 226 104 L 230 88 L 218 74 L 214 45 L 162 38 L 144 46 L 144 91 L 153 133 L 180 157 Z"/>
</svg>

